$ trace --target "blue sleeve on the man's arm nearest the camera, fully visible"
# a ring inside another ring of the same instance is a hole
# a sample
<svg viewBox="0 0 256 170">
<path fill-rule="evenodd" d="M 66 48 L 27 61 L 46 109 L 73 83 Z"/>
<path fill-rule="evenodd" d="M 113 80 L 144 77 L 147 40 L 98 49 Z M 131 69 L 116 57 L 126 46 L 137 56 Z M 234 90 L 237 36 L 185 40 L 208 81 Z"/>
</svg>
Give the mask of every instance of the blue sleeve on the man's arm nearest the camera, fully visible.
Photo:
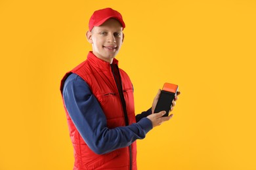
<svg viewBox="0 0 256 170">
<path fill-rule="evenodd" d="M 109 129 L 106 116 L 87 83 L 74 73 L 66 79 L 62 92 L 64 104 L 81 137 L 96 154 L 105 154 L 143 139 L 152 129 L 148 118 L 129 126 Z"/>
</svg>

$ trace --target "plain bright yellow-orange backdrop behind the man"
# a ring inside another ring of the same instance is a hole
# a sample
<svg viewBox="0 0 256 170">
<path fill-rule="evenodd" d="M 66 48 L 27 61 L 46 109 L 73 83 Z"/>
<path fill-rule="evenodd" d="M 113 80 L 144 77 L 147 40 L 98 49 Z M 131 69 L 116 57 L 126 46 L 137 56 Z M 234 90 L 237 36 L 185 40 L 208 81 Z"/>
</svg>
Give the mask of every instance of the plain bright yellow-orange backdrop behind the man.
<svg viewBox="0 0 256 170">
<path fill-rule="evenodd" d="M 139 113 L 164 82 L 173 118 L 137 141 L 139 169 L 256 169 L 256 1 L 0 1 L 0 169 L 72 169 L 60 79 L 91 50 L 94 10 L 127 27 L 117 59 Z"/>
</svg>

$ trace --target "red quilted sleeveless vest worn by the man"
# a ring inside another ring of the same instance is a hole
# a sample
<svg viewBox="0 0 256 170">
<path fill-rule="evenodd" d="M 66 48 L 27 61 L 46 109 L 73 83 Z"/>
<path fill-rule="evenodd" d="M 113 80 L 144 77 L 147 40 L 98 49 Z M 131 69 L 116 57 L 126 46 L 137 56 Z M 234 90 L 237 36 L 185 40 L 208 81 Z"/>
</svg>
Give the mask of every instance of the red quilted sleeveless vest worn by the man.
<svg viewBox="0 0 256 170">
<path fill-rule="evenodd" d="M 117 59 L 114 59 L 114 64 L 118 64 Z M 89 85 L 93 95 L 100 103 L 107 119 L 108 128 L 118 126 L 125 126 L 125 116 L 119 92 L 117 90 L 114 75 L 111 70 L 110 63 L 96 58 L 96 56 L 89 52 L 87 60 L 79 64 L 72 71 L 68 72 L 62 79 L 60 90 L 70 73 L 75 73 Z M 121 76 L 121 84 L 123 88 L 123 96 L 125 98 L 127 117 L 129 124 L 136 122 L 135 109 L 133 99 L 133 86 L 129 76 L 121 69 L 119 69 Z M 66 107 L 65 107 L 66 110 Z M 67 110 L 66 117 L 68 120 L 68 127 L 70 131 L 70 138 L 74 146 L 74 169 L 118 169 L 128 170 L 132 167 L 137 169 L 137 148 L 136 142 L 125 148 L 119 148 L 107 154 L 98 155 L 93 152 L 89 146 L 83 141 L 81 135 L 77 131 L 72 122 Z M 132 162 L 131 162 L 132 160 Z"/>
</svg>

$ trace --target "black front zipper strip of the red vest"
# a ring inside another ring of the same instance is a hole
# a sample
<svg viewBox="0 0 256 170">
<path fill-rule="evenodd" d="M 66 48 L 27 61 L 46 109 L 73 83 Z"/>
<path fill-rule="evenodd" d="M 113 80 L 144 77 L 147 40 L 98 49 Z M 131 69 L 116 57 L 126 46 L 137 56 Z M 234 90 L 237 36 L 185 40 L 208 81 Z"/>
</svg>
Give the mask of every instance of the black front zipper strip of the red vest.
<svg viewBox="0 0 256 170">
<path fill-rule="evenodd" d="M 110 66 L 111 66 L 112 74 L 113 74 L 115 82 L 116 82 L 117 90 L 119 92 L 119 97 L 120 97 L 120 100 L 121 100 L 121 104 L 122 104 L 122 107 L 123 107 L 123 114 L 125 116 L 125 126 L 129 126 L 129 120 L 128 120 L 126 104 L 125 104 L 125 97 L 123 97 L 123 89 L 122 89 L 122 86 L 121 86 L 121 76 L 120 76 L 120 73 L 119 73 L 119 69 L 118 69 L 117 65 L 112 65 L 111 64 Z M 117 73 L 118 73 L 117 76 L 119 76 L 119 80 L 120 80 L 120 88 L 118 88 L 117 78 L 116 78 L 116 75 L 114 73 L 114 68 L 113 67 L 115 67 L 115 66 L 116 66 Z M 128 148 L 129 148 L 129 157 L 130 157 L 130 160 L 129 160 L 130 168 L 129 168 L 129 170 L 132 170 L 133 169 L 133 157 L 132 157 L 131 145 L 129 145 Z"/>
</svg>

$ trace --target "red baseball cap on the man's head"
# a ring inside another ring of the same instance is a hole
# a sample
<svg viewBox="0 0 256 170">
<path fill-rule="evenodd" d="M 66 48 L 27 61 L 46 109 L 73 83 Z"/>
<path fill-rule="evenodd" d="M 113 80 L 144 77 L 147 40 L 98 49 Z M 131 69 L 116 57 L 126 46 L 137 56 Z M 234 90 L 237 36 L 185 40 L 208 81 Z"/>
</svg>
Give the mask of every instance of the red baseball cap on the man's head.
<svg viewBox="0 0 256 170">
<path fill-rule="evenodd" d="M 115 18 L 117 21 L 120 22 L 123 29 L 125 28 L 125 22 L 123 22 L 123 18 L 121 14 L 114 9 L 106 8 L 106 9 L 95 10 L 95 12 L 93 12 L 93 15 L 89 20 L 89 31 L 91 31 L 94 26 L 102 25 L 104 22 L 106 22 L 106 20 L 110 18 Z"/>
</svg>

